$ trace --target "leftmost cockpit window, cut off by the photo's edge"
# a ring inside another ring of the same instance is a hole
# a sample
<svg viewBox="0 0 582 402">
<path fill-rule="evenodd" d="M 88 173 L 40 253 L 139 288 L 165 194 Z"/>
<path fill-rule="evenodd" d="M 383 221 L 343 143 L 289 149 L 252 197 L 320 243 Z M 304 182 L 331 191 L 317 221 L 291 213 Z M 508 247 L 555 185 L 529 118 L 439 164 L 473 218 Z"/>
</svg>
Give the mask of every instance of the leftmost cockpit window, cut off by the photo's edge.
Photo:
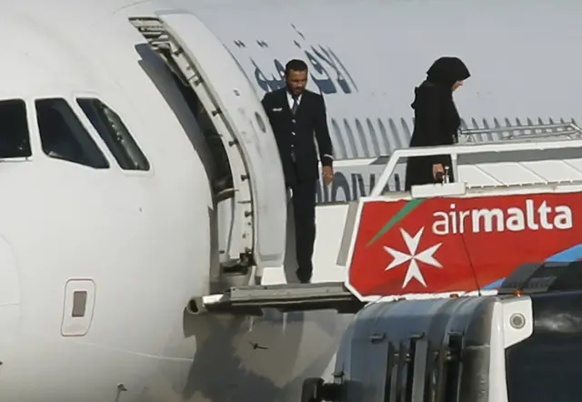
<svg viewBox="0 0 582 402">
<path fill-rule="evenodd" d="M 25 101 L 0 101 L 0 158 L 31 155 Z"/>
</svg>

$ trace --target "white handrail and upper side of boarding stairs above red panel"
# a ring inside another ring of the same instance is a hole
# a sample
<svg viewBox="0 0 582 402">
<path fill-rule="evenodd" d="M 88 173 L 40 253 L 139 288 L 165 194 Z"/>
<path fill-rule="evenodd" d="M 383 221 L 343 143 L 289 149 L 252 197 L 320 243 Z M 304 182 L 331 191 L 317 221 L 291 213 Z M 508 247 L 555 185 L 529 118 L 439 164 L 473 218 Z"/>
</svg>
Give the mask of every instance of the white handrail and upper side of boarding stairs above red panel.
<svg viewBox="0 0 582 402">
<path fill-rule="evenodd" d="M 480 136 L 497 140 L 475 142 Z M 462 194 L 470 188 L 550 186 L 582 183 L 582 129 L 573 123 L 461 130 L 453 146 L 398 149 L 388 160 L 370 196 L 380 196 L 401 159 L 410 156 L 451 156 L 456 183 L 416 186 L 412 196 Z"/>
</svg>

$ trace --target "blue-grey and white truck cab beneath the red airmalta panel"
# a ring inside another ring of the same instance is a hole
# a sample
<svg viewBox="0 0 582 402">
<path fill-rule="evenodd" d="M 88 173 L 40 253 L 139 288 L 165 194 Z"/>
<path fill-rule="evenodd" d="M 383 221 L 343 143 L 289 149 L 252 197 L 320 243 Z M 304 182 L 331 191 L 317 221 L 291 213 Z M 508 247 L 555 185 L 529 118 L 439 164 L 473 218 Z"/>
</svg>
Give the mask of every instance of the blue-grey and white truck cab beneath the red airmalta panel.
<svg viewBox="0 0 582 402">
<path fill-rule="evenodd" d="M 520 266 L 497 295 L 368 304 L 346 330 L 332 381 L 302 402 L 562 402 L 582 351 L 581 262 Z"/>
</svg>

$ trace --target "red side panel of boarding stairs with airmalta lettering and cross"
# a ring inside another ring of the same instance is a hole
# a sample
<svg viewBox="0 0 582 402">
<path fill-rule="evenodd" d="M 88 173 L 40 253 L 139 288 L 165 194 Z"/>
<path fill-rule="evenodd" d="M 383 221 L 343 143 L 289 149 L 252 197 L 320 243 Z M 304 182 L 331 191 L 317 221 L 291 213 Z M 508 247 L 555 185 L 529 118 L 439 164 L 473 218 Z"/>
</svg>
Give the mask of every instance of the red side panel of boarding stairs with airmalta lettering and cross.
<svg viewBox="0 0 582 402">
<path fill-rule="evenodd" d="M 361 296 L 477 290 L 581 244 L 580 214 L 578 193 L 366 201 L 349 283 Z"/>
</svg>

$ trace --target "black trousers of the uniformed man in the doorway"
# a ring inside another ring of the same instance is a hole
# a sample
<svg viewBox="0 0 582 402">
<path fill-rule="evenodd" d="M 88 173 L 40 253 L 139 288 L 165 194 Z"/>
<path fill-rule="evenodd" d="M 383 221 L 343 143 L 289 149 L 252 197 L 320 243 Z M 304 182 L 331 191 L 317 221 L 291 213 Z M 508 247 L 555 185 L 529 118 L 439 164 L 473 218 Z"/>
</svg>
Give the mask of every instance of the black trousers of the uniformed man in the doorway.
<svg viewBox="0 0 582 402">
<path fill-rule="evenodd" d="M 309 280 L 313 272 L 312 258 L 316 241 L 316 186 L 316 180 L 297 181 L 291 186 L 297 276 L 300 280 Z"/>
</svg>

